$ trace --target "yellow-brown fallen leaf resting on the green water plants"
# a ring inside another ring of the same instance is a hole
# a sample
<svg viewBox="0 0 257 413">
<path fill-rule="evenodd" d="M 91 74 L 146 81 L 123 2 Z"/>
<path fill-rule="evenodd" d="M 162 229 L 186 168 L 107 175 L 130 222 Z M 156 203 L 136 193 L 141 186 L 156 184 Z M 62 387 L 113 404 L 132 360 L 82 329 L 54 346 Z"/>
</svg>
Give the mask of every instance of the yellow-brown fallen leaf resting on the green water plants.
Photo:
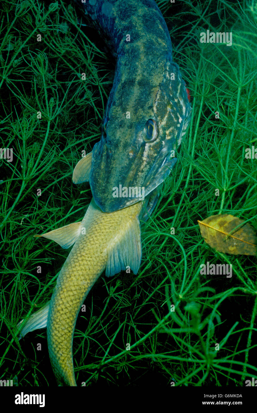
<svg viewBox="0 0 257 413">
<path fill-rule="evenodd" d="M 226 254 L 256 255 L 257 237 L 254 228 L 229 214 L 212 215 L 197 221 L 205 242 Z"/>
</svg>

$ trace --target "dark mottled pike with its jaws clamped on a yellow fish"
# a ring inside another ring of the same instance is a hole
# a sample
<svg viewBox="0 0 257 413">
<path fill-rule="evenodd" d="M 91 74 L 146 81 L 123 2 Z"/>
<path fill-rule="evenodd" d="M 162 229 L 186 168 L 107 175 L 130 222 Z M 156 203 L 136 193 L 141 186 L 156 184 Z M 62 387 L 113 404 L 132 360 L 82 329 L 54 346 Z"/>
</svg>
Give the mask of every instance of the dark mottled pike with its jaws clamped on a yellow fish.
<svg viewBox="0 0 257 413">
<path fill-rule="evenodd" d="M 76 3 L 101 31 L 117 58 L 89 178 L 96 204 L 102 211 L 112 212 L 138 201 L 135 197 L 113 198 L 114 187 L 144 187 L 146 196 L 170 173 L 170 153 L 186 132 L 191 107 L 156 2 Z M 156 122 L 158 136 L 146 142 L 149 119 Z"/>
</svg>

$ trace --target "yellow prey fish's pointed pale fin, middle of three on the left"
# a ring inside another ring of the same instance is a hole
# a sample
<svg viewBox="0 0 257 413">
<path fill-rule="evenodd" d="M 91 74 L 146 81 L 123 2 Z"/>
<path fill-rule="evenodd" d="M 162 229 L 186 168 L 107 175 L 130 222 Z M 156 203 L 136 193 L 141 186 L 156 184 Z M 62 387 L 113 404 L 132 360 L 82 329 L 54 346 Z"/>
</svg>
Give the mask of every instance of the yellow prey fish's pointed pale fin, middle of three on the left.
<svg viewBox="0 0 257 413">
<path fill-rule="evenodd" d="M 81 221 L 73 222 L 64 227 L 57 228 L 57 230 L 50 231 L 42 235 L 34 235 L 34 237 L 45 237 L 49 240 L 57 242 L 62 248 L 69 248 L 74 244 L 78 236 L 80 235 Z"/>
</svg>

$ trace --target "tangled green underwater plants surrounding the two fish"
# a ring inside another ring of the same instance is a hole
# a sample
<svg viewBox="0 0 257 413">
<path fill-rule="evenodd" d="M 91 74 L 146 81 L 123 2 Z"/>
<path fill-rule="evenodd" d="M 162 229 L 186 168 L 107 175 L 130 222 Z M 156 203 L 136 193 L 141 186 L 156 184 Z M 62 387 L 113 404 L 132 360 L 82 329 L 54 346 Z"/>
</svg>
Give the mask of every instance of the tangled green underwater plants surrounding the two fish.
<svg viewBox="0 0 257 413">
<path fill-rule="evenodd" d="M 197 221 L 231 214 L 257 230 L 257 6 L 157 4 L 192 119 L 141 223 L 138 274 L 103 273 L 87 296 L 74 334 L 75 378 L 245 386 L 257 379 L 256 256 L 212 249 Z M 101 36 L 78 24 L 72 2 L 2 1 L 0 14 L 0 147 L 12 148 L 0 159 L 0 379 L 55 386 L 46 330 L 18 340 L 17 324 L 50 300 L 69 250 L 33 235 L 85 214 L 90 186 L 73 185 L 72 173 L 100 139 L 115 62 Z M 231 45 L 202 43 L 207 30 L 232 33 Z M 231 277 L 201 274 L 207 263 L 232 266 Z"/>
</svg>

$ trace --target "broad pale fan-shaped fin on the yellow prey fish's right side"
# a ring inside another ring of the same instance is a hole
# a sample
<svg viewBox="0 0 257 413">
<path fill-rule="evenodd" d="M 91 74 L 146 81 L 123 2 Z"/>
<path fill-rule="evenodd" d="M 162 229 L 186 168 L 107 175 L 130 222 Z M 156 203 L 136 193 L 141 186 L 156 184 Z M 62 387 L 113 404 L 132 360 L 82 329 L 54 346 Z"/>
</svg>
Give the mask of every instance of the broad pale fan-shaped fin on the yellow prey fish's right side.
<svg viewBox="0 0 257 413">
<path fill-rule="evenodd" d="M 125 236 L 115 240 L 107 248 L 106 276 L 111 277 L 126 270 L 130 266 L 134 274 L 137 274 L 141 263 L 141 231 L 138 218 L 135 218 L 128 228 Z"/>
</svg>

